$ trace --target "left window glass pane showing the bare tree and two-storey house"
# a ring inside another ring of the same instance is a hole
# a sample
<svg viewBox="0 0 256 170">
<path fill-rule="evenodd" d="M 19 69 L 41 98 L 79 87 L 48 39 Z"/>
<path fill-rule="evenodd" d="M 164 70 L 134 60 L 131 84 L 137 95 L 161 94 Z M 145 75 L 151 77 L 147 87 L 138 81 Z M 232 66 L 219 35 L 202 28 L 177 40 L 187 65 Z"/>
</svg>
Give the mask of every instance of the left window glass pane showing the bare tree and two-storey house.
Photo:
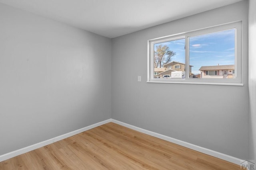
<svg viewBox="0 0 256 170">
<path fill-rule="evenodd" d="M 158 72 L 158 77 L 170 78 L 174 71 L 185 71 L 184 47 L 185 39 L 154 44 L 154 72 Z"/>
</svg>

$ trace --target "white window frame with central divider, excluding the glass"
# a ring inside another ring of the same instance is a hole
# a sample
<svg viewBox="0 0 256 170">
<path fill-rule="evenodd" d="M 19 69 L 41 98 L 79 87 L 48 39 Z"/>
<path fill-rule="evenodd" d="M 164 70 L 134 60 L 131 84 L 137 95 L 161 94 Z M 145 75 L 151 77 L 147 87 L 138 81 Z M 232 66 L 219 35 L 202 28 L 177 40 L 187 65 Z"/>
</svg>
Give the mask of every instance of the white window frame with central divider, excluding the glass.
<svg viewBox="0 0 256 170">
<path fill-rule="evenodd" d="M 185 70 L 189 70 L 189 37 L 214 33 L 218 31 L 225 31 L 228 29 L 235 29 L 235 76 L 234 78 L 190 78 L 189 72 L 185 72 L 185 78 L 170 78 L 170 79 L 156 79 L 154 78 L 154 44 L 163 43 L 167 41 L 174 41 L 185 38 Z M 217 85 L 234 85 L 243 86 L 242 84 L 242 21 L 216 25 L 212 27 L 202 28 L 185 33 L 178 33 L 175 35 L 160 37 L 148 40 L 148 80 L 152 83 L 179 83 L 179 84 L 217 84 Z"/>
</svg>

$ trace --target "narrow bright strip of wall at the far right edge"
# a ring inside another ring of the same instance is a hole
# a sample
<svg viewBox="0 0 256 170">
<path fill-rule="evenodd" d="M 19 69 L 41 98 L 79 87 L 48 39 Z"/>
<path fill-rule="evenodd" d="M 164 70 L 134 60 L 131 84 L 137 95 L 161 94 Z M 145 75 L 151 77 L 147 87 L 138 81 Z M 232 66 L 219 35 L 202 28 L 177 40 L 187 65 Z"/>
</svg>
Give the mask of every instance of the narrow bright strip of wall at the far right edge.
<svg viewBox="0 0 256 170">
<path fill-rule="evenodd" d="M 249 1 L 249 158 L 256 159 L 256 1 Z"/>
</svg>

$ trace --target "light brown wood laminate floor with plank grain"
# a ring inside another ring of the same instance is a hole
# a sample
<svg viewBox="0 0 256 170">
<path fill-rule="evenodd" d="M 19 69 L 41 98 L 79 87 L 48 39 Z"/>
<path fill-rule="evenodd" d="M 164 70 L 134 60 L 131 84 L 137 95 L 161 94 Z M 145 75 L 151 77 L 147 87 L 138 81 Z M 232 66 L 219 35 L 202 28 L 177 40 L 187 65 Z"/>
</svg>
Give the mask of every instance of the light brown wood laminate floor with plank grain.
<svg viewBox="0 0 256 170">
<path fill-rule="evenodd" d="M 224 160 L 115 123 L 0 162 L 0 170 L 240 170 Z"/>
</svg>

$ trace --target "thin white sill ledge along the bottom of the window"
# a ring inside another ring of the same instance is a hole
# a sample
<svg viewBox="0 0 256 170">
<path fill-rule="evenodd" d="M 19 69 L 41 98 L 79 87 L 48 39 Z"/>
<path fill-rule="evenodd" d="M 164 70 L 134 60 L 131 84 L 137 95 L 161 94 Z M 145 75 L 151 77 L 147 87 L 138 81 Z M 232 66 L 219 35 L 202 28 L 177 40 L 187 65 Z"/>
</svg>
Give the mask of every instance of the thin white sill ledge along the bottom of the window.
<svg viewBox="0 0 256 170">
<path fill-rule="evenodd" d="M 147 83 L 169 83 L 169 84 L 209 84 L 224 86 L 244 86 L 242 83 L 214 83 L 214 82 L 174 82 L 174 81 L 147 81 Z"/>
</svg>

